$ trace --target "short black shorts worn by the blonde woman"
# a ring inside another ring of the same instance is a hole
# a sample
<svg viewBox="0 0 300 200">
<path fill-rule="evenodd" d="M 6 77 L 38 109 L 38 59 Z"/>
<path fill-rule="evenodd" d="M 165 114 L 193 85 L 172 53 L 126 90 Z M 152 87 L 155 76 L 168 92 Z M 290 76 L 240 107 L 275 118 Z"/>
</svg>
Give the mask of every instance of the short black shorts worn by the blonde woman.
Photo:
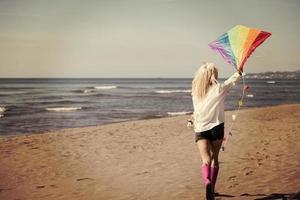
<svg viewBox="0 0 300 200">
<path fill-rule="evenodd" d="M 224 138 L 224 123 L 213 127 L 210 130 L 195 133 L 195 142 L 198 140 L 207 139 L 210 141 L 221 140 Z"/>
</svg>

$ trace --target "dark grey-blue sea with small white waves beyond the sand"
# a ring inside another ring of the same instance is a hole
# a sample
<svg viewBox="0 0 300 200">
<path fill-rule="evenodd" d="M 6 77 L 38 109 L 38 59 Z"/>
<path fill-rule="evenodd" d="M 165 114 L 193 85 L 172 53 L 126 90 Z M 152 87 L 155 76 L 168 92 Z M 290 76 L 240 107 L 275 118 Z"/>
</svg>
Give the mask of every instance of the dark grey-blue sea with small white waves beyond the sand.
<svg viewBox="0 0 300 200">
<path fill-rule="evenodd" d="M 0 135 L 190 114 L 192 79 L 0 79 Z M 224 79 L 219 80 L 220 82 Z M 243 108 L 300 102 L 300 79 L 246 79 Z M 242 82 L 226 110 L 238 108 Z"/>
</svg>

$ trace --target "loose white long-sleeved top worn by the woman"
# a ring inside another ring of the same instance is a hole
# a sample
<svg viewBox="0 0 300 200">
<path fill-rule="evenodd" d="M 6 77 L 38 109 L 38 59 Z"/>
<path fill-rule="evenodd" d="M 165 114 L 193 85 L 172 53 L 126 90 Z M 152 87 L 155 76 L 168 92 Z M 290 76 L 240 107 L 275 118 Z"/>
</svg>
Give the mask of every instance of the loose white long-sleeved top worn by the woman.
<svg viewBox="0 0 300 200">
<path fill-rule="evenodd" d="M 224 83 L 210 86 L 207 94 L 198 100 L 193 97 L 194 130 L 203 132 L 224 123 L 224 100 L 229 89 L 235 85 L 241 75 L 238 72 L 229 77 Z"/>
</svg>

